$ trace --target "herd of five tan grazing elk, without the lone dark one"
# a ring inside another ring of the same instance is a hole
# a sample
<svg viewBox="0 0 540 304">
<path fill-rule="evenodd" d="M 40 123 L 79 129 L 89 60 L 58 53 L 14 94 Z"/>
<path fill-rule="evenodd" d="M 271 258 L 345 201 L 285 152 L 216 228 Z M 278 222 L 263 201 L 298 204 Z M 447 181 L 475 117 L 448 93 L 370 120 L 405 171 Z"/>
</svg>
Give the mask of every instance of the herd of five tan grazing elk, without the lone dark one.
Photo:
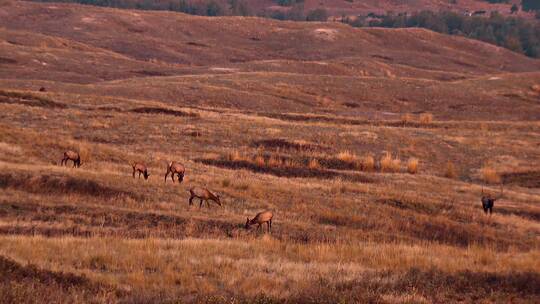
<svg viewBox="0 0 540 304">
<path fill-rule="evenodd" d="M 60 165 L 64 166 L 67 165 L 68 161 L 73 162 L 73 168 L 79 168 L 81 166 L 81 156 L 78 152 L 73 150 L 68 150 L 64 152 L 64 157 L 62 158 Z M 145 180 L 148 180 L 148 177 L 150 177 L 150 173 L 148 173 L 148 167 L 146 164 L 142 162 L 134 162 L 130 163 L 133 172 L 133 178 L 135 178 L 135 174 L 138 174 L 138 178 L 141 178 L 141 175 L 144 177 Z M 176 175 L 178 182 L 181 183 L 184 180 L 184 176 L 186 174 L 186 168 L 183 164 L 173 161 L 168 163 L 167 165 L 167 172 L 165 172 L 165 182 L 167 182 L 167 177 L 169 175 L 171 176 L 172 182 L 174 183 L 174 176 Z M 203 187 L 192 187 L 189 190 L 189 206 L 193 205 L 193 200 L 198 199 L 199 200 L 199 209 L 202 207 L 203 203 L 206 202 L 206 205 L 208 208 L 210 208 L 210 201 L 216 203 L 218 206 L 222 206 L 221 200 L 219 198 L 219 194 L 215 194 L 208 190 L 207 188 Z M 262 224 L 267 224 L 267 231 L 270 232 L 272 229 L 272 218 L 274 217 L 274 214 L 271 211 L 264 211 L 260 212 L 255 215 L 253 219 L 247 219 L 247 222 L 245 224 L 245 228 L 249 229 L 251 225 L 258 225 L 257 230 L 260 230 Z"/>
</svg>

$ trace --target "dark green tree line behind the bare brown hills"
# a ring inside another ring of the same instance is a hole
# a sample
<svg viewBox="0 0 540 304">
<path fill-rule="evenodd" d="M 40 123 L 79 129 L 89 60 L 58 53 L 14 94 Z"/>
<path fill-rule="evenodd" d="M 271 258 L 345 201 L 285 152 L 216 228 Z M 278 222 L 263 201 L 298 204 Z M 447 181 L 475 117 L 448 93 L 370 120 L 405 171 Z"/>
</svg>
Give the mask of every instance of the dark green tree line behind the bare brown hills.
<svg viewBox="0 0 540 304">
<path fill-rule="evenodd" d="M 248 0 L 35 0 L 38 2 L 75 2 L 114 8 L 169 10 L 201 16 L 254 16 Z M 257 16 L 278 20 L 326 21 L 328 13 L 323 8 L 305 12 L 304 0 L 275 0 L 283 10 L 262 10 Z M 499 0 L 491 0 L 499 1 Z M 524 10 L 538 10 L 540 0 L 522 0 Z M 342 21 L 354 27 L 421 27 L 439 33 L 461 35 L 499 45 L 530 57 L 540 58 L 540 21 L 527 21 L 519 17 L 505 17 L 492 12 L 489 17 L 465 16 L 441 11 L 422 11 L 408 14 L 343 17 Z"/>
</svg>

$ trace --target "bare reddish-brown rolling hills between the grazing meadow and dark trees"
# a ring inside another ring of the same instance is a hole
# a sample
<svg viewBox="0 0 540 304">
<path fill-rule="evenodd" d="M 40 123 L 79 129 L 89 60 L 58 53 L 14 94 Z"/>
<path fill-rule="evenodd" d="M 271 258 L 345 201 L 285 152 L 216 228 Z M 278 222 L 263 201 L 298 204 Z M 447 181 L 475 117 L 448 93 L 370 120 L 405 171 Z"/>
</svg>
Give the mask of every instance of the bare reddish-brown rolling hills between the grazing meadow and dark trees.
<svg viewBox="0 0 540 304">
<path fill-rule="evenodd" d="M 8 67 L 0 74 L 10 88 L 366 118 L 404 110 L 539 116 L 539 60 L 427 30 L 26 2 L 5 5 L 0 26 Z M 464 112 L 464 104 L 478 109 Z"/>
</svg>

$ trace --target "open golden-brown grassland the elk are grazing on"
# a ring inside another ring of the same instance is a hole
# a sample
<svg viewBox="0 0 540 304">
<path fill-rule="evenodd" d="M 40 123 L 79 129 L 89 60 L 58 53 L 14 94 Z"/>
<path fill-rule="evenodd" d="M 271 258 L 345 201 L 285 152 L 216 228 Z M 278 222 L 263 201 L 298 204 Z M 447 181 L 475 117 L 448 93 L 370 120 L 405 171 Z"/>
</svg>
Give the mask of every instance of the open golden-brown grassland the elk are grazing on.
<svg viewBox="0 0 540 304">
<path fill-rule="evenodd" d="M 95 290 L 113 302 L 539 298 L 536 122 L 343 124 L 338 116 L 3 96 L 0 253 L 17 267 L 89 280 L 49 291 L 51 301 L 84 302 Z M 58 166 L 69 148 L 81 152 L 80 169 Z M 385 169 L 388 157 L 396 169 Z M 180 185 L 163 180 L 173 159 L 187 167 Z M 148 181 L 131 177 L 135 160 L 148 163 Z M 499 191 L 482 186 L 488 166 L 506 182 L 492 217 L 479 201 L 482 187 Z M 191 186 L 222 194 L 224 207 L 189 207 Z M 243 229 L 265 209 L 275 213 L 271 236 Z M 21 288 L 3 292 L 45 293 Z"/>
</svg>

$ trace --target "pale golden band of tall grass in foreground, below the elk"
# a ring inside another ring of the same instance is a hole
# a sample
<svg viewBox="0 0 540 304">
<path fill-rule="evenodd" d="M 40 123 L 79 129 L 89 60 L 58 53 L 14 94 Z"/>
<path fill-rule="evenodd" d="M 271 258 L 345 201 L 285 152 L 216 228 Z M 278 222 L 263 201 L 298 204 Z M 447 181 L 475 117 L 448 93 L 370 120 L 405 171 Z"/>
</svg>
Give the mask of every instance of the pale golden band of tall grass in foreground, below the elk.
<svg viewBox="0 0 540 304">
<path fill-rule="evenodd" d="M 0 237 L 0 253 L 39 267 L 84 274 L 133 289 L 215 293 L 220 289 L 287 298 L 320 277 L 334 284 L 370 271 L 411 268 L 463 271 L 540 271 L 540 251 L 497 252 L 437 244 L 293 244 L 257 240 L 126 240 L 121 238 Z M 276 261 L 279 261 L 276 263 Z M 181 271 L 179 271 L 181 269 Z M 121 275 L 119 275 L 121 274 Z M 264 275 L 263 275 L 264 274 Z M 200 276 L 204 280 L 200 280 Z M 194 278 L 199 278 L 194 280 Z"/>
</svg>

